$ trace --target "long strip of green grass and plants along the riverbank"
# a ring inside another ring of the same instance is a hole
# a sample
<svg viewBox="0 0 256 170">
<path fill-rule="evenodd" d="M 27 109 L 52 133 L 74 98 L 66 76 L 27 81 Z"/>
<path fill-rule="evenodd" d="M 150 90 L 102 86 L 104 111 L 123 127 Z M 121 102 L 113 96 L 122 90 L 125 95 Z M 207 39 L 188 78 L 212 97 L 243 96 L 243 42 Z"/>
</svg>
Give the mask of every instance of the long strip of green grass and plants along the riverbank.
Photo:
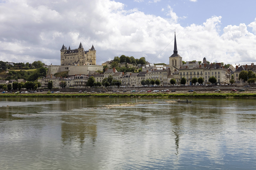
<svg viewBox="0 0 256 170">
<path fill-rule="evenodd" d="M 256 98 L 256 93 L 33 93 L 0 94 L 0 97 L 143 97 L 143 98 Z"/>
</svg>

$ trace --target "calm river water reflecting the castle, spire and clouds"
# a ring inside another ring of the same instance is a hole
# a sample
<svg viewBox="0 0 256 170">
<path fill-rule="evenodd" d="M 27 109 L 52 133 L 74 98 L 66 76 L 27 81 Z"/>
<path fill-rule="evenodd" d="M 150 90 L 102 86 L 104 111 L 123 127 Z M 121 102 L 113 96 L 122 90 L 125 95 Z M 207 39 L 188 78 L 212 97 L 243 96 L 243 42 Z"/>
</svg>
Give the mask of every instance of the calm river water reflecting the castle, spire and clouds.
<svg viewBox="0 0 256 170">
<path fill-rule="evenodd" d="M 0 169 L 256 169 L 255 99 L 165 100 L 0 98 Z"/>
</svg>

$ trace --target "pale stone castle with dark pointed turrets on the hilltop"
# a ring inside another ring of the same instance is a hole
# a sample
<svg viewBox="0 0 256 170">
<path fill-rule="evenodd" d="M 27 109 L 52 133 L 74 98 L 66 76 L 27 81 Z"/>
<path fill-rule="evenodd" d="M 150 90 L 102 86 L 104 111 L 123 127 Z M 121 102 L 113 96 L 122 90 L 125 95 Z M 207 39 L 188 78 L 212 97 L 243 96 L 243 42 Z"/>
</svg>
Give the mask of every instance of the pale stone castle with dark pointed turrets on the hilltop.
<svg viewBox="0 0 256 170">
<path fill-rule="evenodd" d="M 81 42 L 79 47 L 74 50 L 71 50 L 70 46 L 67 50 L 63 44 L 60 50 L 60 65 L 96 65 L 96 50 L 92 45 L 88 51 L 85 51 Z"/>
</svg>

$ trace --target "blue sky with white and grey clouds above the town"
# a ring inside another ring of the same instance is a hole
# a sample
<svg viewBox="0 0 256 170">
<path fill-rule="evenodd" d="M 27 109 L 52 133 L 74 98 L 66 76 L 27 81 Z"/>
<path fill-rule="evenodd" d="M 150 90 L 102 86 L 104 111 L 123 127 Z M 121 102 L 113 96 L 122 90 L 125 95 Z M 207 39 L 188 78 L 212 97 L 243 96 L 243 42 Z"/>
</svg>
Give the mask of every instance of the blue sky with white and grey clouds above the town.
<svg viewBox="0 0 256 170">
<path fill-rule="evenodd" d="M 256 63 L 253 0 L 0 0 L 0 61 L 60 65 L 63 44 L 115 56 Z"/>
</svg>

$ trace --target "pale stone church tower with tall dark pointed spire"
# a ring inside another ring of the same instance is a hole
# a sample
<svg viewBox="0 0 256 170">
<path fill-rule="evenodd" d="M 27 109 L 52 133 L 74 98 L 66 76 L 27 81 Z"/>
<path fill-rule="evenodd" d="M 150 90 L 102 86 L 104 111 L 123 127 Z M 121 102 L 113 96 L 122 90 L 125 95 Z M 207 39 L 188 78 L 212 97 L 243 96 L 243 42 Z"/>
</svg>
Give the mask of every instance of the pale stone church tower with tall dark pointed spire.
<svg viewBox="0 0 256 170">
<path fill-rule="evenodd" d="M 182 57 L 178 54 L 177 43 L 176 43 L 176 33 L 174 32 L 174 50 L 173 54 L 169 57 L 170 67 L 179 69 L 182 66 Z"/>
</svg>

